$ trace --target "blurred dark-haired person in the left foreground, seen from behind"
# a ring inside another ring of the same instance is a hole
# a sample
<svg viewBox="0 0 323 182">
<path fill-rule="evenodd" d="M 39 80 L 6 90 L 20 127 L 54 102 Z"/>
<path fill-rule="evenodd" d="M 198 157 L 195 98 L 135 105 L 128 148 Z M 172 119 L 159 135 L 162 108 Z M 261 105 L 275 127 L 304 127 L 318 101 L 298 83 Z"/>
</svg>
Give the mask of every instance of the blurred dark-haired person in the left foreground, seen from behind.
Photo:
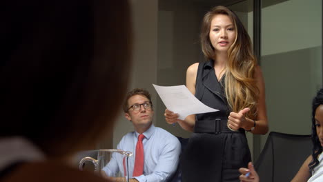
<svg viewBox="0 0 323 182">
<path fill-rule="evenodd" d="M 70 164 L 112 129 L 128 84 L 128 1 L 1 3 L 0 181 L 106 181 Z"/>
</svg>

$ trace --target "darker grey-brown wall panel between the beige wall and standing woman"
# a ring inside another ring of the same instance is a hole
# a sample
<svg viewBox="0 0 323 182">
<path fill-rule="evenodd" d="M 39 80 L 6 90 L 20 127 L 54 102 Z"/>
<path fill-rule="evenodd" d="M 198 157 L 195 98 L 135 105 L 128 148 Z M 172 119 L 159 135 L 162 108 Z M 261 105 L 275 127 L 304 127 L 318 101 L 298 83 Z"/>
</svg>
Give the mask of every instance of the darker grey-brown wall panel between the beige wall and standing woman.
<svg viewBox="0 0 323 182">
<path fill-rule="evenodd" d="M 157 84 L 185 85 L 186 69 L 199 60 L 199 8 L 183 0 L 159 1 Z M 169 125 L 165 105 L 157 97 L 157 126 L 175 136 L 187 138 L 190 132 Z"/>
</svg>

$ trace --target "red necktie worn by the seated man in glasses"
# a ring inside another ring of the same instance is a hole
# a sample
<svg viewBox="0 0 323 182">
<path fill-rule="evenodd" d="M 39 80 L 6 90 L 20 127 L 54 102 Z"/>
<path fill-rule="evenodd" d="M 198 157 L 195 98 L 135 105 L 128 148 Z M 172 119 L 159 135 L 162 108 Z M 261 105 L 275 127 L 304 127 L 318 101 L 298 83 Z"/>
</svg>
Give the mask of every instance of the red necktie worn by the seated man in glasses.
<svg viewBox="0 0 323 182">
<path fill-rule="evenodd" d="M 135 169 L 133 170 L 133 176 L 140 176 L 144 172 L 144 145 L 142 145 L 142 140 L 144 138 L 144 134 L 139 134 L 136 145 Z"/>
</svg>

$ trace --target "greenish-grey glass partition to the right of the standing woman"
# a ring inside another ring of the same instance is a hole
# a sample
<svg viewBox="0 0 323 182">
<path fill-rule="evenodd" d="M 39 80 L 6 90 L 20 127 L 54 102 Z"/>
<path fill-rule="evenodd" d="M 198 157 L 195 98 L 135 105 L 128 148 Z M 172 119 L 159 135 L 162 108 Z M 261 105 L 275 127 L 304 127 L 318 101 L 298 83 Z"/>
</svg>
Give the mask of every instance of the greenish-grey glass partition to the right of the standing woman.
<svg viewBox="0 0 323 182">
<path fill-rule="evenodd" d="M 322 1 L 262 0 L 261 24 L 270 130 L 310 134 L 311 101 L 322 87 Z"/>
</svg>

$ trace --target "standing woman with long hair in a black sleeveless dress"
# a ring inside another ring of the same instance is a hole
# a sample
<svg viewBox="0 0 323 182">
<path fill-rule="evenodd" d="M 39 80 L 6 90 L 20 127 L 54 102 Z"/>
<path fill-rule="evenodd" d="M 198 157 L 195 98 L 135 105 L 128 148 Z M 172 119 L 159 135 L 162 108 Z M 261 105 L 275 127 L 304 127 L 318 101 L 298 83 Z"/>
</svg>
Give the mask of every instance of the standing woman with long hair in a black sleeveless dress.
<svg viewBox="0 0 323 182">
<path fill-rule="evenodd" d="M 245 131 L 268 132 L 264 79 L 248 33 L 228 8 L 205 14 L 201 44 L 208 61 L 188 67 L 186 87 L 219 111 L 180 120 L 166 109 L 167 123 L 194 132 L 182 154 L 182 181 L 239 181 L 238 169 L 251 160 Z"/>
</svg>

